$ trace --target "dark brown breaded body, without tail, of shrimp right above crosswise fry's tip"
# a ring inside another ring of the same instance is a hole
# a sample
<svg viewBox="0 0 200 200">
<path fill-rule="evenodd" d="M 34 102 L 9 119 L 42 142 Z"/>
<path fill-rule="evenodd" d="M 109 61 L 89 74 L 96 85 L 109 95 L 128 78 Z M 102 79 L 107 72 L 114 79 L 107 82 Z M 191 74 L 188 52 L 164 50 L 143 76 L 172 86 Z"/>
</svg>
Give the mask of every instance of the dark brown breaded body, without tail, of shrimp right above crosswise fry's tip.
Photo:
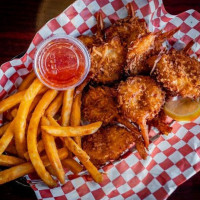
<svg viewBox="0 0 200 200">
<path fill-rule="evenodd" d="M 116 117 L 117 108 L 113 98 L 114 90 L 109 87 L 90 87 L 82 98 L 83 118 L 89 122 L 111 123 Z"/>
</svg>

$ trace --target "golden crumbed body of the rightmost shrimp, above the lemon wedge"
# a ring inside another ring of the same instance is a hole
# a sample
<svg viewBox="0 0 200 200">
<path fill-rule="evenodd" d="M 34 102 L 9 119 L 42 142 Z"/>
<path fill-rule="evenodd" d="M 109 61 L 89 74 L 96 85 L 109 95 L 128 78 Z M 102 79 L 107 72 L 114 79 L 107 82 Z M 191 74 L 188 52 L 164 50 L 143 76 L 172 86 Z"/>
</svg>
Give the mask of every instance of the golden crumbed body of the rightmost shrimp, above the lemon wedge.
<svg viewBox="0 0 200 200">
<path fill-rule="evenodd" d="M 148 62 L 151 65 L 152 59 Z M 200 63 L 184 51 L 172 50 L 163 54 L 154 67 L 156 80 L 171 95 L 189 98 L 200 96 Z"/>
</svg>

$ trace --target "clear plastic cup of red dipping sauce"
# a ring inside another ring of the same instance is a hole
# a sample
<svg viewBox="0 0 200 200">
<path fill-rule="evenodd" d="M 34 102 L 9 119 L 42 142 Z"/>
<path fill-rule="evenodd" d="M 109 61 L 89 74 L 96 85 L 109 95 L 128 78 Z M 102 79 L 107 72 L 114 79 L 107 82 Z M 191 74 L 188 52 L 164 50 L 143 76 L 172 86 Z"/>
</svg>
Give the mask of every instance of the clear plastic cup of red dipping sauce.
<svg viewBox="0 0 200 200">
<path fill-rule="evenodd" d="M 90 68 L 86 47 L 66 35 L 54 35 L 38 48 L 34 58 L 34 70 L 48 87 L 66 90 L 81 84 Z"/>
</svg>

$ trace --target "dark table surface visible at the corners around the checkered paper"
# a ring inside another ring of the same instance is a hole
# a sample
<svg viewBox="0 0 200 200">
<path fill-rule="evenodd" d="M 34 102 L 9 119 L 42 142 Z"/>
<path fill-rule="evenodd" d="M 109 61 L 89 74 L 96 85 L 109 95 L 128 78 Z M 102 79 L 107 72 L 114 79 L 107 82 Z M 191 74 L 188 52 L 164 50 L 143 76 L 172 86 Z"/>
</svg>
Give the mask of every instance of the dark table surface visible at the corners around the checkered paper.
<svg viewBox="0 0 200 200">
<path fill-rule="evenodd" d="M 163 0 L 170 14 L 188 9 L 200 12 L 200 0 Z M 36 31 L 73 0 L 1 0 L 0 65 L 25 51 Z M 15 181 L 0 186 L 2 200 L 35 200 L 29 187 Z M 179 186 L 168 200 L 200 199 L 200 172 Z"/>
</svg>

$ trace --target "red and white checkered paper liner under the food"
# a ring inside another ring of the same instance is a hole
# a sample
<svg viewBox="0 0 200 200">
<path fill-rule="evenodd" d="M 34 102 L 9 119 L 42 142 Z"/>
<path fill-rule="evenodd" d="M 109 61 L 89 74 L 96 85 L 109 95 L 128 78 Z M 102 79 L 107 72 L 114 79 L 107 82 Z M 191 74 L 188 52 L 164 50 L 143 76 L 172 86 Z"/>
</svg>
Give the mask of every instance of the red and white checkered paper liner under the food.
<svg viewBox="0 0 200 200">
<path fill-rule="evenodd" d="M 106 26 L 127 16 L 129 0 L 78 0 L 58 17 L 50 20 L 35 35 L 26 54 L 0 68 L 0 98 L 14 92 L 32 69 L 37 45 L 52 34 L 72 36 L 92 34 L 96 29 L 94 14 L 104 14 Z M 181 26 L 169 44 L 179 49 L 191 39 L 191 54 L 200 53 L 200 13 L 188 10 L 179 15 L 166 12 L 162 0 L 134 0 L 134 9 L 144 18 L 150 31 L 171 30 Z M 2 120 L 2 117 L 0 118 Z M 48 188 L 33 175 L 27 176 L 38 199 L 166 199 L 178 185 L 200 170 L 200 118 L 191 123 L 175 122 L 168 136 L 161 136 L 149 146 L 149 156 L 141 160 L 137 152 L 103 167 L 104 181 L 93 182 L 87 176 L 73 178 L 66 173 L 66 183 Z M 1 121 L 2 123 L 2 121 Z"/>
</svg>

